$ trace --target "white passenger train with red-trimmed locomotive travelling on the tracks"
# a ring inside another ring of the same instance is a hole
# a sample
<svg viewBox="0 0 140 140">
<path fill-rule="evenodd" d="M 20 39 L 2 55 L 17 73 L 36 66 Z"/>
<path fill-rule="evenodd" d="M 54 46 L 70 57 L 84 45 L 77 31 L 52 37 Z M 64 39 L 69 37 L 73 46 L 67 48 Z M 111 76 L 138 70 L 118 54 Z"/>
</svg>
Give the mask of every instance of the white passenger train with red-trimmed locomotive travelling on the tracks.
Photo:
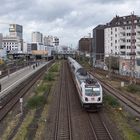
<svg viewBox="0 0 140 140">
<path fill-rule="evenodd" d="M 101 84 L 73 58 L 68 57 L 68 65 L 82 107 L 86 110 L 100 110 L 103 103 L 103 89 Z"/>
</svg>

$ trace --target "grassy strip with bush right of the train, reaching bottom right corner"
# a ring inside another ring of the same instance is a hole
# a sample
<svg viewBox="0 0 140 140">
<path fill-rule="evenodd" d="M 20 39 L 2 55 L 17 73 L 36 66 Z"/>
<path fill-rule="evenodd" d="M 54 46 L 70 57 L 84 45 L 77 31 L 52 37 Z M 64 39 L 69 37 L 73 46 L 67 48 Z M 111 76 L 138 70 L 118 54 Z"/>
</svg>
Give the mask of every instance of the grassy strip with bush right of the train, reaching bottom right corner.
<svg viewBox="0 0 140 140">
<path fill-rule="evenodd" d="M 129 122 L 134 118 L 123 111 L 117 99 L 110 95 L 104 96 L 105 107 L 109 109 L 110 119 L 115 122 L 125 140 L 140 140 L 140 135 L 130 126 Z"/>
</svg>

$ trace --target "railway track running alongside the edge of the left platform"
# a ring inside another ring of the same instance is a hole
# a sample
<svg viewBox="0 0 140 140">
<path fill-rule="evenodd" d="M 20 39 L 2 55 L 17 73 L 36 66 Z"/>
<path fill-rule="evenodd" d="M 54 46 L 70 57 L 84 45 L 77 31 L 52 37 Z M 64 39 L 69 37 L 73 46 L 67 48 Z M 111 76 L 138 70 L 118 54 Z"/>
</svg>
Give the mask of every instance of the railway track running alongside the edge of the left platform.
<svg viewBox="0 0 140 140">
<path fill-rule="evenodd" d="M 49 63 L 47 66 L 44 66 L 39 71 L 35 72 L 28 79 L 24 80 L 19 84 L 13 91 L 8 93 L 0 101 L 0 121 L 11 111 L 14 105 L 19 101 L 19 98 L 23 97 L 27 91 L 34 85 L 34 83 L 44 74 L 46 68 L 53 63 Z"/>
</svg>

